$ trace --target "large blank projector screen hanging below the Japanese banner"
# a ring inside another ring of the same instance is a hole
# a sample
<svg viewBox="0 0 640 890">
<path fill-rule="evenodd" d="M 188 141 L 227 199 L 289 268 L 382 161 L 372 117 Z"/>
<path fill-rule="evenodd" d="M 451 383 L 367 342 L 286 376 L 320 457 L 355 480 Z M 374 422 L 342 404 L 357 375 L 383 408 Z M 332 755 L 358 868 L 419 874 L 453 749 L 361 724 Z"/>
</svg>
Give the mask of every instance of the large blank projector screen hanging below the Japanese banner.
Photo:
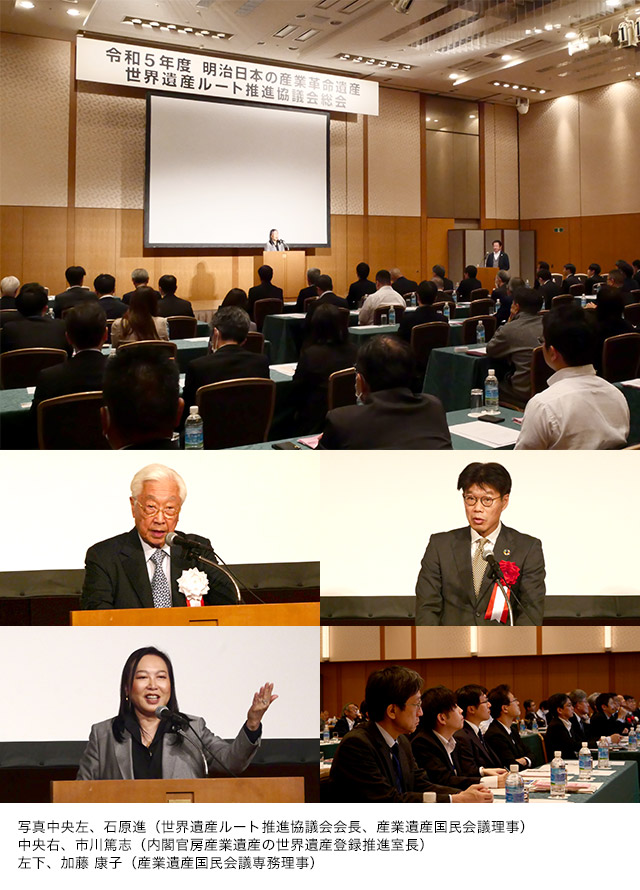
<svg viewBox="0 0 640 890">
<path fill-rule="evenodd" d="M 145 247 L 327 247 L 329 115 L 147 97 Z"/>
</svg>

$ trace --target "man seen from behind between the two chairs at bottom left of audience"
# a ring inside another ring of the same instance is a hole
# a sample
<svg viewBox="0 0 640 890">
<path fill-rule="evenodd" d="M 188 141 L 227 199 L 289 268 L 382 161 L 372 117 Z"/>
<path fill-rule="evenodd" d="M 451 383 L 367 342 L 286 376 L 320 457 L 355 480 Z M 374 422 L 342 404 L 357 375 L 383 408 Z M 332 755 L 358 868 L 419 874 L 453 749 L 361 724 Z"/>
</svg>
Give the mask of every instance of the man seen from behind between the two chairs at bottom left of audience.
<svg viewBox="0 0 640 890">
<path fill-rule="evenodd" d="M 102 383 L 102 431 L 112 448 L 178 447 L 182 418 L 178 363 L 153 346 L 121 349 L 109 359 Z"/>
</svg>

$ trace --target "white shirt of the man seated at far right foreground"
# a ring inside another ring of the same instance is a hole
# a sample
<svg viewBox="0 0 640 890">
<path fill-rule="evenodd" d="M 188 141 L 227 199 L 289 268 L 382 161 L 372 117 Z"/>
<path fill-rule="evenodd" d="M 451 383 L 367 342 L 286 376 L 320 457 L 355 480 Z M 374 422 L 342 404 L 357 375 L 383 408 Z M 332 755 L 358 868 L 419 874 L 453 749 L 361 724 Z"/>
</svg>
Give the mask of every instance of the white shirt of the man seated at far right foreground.
<svg viewBox="0 0 640 890">
<path fill-rule="evenodd" d="M 596 377 L 593 365 L 579 365 L 556 371 L 549 388 L 527 403 L 516 448 L 616 448 L 628 435 L 623 394 Z"/>
</svg>

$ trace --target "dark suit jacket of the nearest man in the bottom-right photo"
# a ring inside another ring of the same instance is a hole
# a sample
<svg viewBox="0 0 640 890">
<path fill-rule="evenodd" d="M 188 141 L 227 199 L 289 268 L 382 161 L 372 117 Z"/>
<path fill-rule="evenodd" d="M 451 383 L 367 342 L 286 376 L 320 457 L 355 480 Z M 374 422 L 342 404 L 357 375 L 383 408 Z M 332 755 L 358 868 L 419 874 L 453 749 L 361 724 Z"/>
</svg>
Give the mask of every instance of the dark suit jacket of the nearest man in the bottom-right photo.
<svg viewBox="0 0 640 890">
<path fill-rule="evenodd" d="M 448 803 L 453 788 L 434 785 L 416 765 L 406 736 L 398 738 L 404 792 L 395 784 L 389 746 L 375 723 L 356 726 L 336 751 L 331 766 L 335 797 L 344 803 L 422 803 L 424 791 L 434 791 L 438 803 Z"/>
</svg>

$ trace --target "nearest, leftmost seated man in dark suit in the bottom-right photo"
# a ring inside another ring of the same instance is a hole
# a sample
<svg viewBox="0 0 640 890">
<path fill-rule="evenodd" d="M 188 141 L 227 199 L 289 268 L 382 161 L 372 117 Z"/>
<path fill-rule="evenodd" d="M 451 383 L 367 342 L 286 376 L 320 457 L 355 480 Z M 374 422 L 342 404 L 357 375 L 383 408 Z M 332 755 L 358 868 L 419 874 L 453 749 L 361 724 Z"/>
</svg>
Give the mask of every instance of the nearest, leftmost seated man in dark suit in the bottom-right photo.
<svg viewBox="0 0 640 890">
<path fill-rule="evenodd" d="M 331 766 L 333 796 L 349 803 L 473 803 L 490 802 L 491 791 L 480 785 L 456 794 L 434 785 L 416 765 L 406 738 L 422 714 L 422 677 L 391 665 L 367 680 L 369 721 L 348 733 Z"/>
</svg>

